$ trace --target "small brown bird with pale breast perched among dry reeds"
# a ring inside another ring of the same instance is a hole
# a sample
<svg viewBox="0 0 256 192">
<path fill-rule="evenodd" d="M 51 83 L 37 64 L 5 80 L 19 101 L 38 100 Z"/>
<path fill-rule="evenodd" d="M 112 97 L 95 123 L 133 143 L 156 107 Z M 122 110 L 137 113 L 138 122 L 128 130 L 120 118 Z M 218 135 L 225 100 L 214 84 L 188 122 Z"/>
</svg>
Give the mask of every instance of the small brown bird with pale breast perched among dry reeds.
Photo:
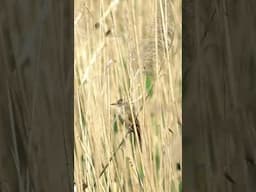
<svg viewBox="0 0 256 192">
<path fill-rule="evenodd" d="M 124 102 L 123 99 L 119 99 L 116 103 L 112 103 L 111 105 L 116 106 L 118 118 L 128 131 L 131 131 L 134 134 L 137 133 L 140 147 L 142 147 L 140 123 L 135 113 L 134 106 L 130 105 L 128 102 Z"/>
</svg>

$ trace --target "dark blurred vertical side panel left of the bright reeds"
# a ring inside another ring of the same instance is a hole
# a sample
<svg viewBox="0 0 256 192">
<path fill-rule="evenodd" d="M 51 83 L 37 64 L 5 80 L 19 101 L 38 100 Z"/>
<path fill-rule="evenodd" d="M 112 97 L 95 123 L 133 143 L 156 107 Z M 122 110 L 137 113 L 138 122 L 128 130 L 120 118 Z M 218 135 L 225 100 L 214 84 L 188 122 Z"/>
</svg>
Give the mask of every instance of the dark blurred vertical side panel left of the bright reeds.
<svg viewBox="0 0 256 192">
<path fill-rule="evenodd" d="M 0 8 L 0 191 L 73 191 L 74 2 Z"/>
</svg>

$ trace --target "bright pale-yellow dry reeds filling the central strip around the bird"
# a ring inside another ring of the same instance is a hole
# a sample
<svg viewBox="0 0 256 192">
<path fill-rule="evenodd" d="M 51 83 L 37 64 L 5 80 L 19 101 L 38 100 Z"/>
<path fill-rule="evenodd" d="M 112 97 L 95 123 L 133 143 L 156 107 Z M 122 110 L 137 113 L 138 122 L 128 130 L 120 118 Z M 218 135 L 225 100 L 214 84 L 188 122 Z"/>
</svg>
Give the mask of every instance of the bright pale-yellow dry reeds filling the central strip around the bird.
<svg viewBox="0 0 256 192">
<path fill-rule="evenodd" d="M 142 151 L 115 118 L 120 98 Z M 181 0 L 75 0 L 74 110 L 78 192 L 180 190 Z"/>
</svg>

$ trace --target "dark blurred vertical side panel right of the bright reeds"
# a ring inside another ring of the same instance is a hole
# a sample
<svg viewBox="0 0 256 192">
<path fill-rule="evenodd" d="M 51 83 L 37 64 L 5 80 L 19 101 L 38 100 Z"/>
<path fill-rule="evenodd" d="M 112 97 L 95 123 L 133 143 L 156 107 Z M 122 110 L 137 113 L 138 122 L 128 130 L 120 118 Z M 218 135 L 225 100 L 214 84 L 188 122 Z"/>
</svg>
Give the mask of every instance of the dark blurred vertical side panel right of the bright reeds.
<svg viewBox="0 0 256 192">
<path fill-rule="evenodd" d="M 183 1 L 183 189 L 255 191 L 256 3 Z"/>
</svg>

